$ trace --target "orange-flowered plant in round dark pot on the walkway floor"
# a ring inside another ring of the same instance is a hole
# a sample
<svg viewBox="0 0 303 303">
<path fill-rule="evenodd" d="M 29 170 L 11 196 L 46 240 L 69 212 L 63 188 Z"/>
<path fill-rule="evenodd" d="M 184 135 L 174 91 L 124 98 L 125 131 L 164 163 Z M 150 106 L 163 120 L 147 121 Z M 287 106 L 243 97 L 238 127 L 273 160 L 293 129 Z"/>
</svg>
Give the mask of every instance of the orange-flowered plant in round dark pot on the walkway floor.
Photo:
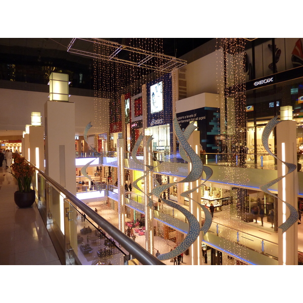
<svg viewBox="0 0 303 303">
<path fill-rule="evenodd" d="M 30 188 L 35 169 L 19 154 L 14 154 L 13 159 L 11 174 L 18 181 L 19 188 L 14 194 L 15 203 L 20 208 L 30 207 L 35 201 L 35 191 Z"/>
</svg>

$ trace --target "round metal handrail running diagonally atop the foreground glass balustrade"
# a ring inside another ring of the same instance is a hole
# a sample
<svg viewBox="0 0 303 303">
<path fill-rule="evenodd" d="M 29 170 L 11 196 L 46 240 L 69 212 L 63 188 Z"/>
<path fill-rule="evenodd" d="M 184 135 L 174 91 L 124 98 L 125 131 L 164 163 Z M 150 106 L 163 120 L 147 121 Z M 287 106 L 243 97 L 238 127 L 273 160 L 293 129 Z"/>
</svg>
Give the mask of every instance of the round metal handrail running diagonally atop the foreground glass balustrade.
<svg viewBox="0 0 303 303">
<path fill-rule="evenodd" d="M 27 161 L 27 160 L 26 160 Z M 28 161 L 27 161 L 28 162 Z M 40 171 L 32 163 L 28 162 L 31 166 L 35 168 L 49 183 L 54 185 L 58 190 L 60 190 L 66 197 L 72 201 L 82 212 L 88 215 L 100 228 L 106 231 L 111 237 L 113 237 L 122 247 L 130 252 L 142 265 L 166 265 L 155 256 L 151 255 L 146 249 L 144 249 L 137 242 L 131 240 L 126 234 L 120 231 L 113 224 L 108 222 L 106 219 L 97 214 L 89 206 L 75 197 L 70 191 L 62 187 L 58 182 L 53 180 L 51 177 L 47 176 L 45 173 Z"/>
</svg>

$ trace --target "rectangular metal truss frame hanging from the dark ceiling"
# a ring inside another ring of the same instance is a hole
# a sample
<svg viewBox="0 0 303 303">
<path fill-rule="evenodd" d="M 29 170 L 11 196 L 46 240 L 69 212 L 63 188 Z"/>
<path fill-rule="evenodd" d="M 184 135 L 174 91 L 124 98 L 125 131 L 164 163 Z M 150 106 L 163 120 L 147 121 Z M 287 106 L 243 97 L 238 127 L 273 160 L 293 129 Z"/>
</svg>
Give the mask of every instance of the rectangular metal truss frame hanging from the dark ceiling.
<svg viewBox="0 0 303 303">
<path fill-rule="evenodd" d="M 75 46 L 75 42 L 77 39 L 87 41 L 90 43 L 97 43 L 97 44 L 103 45 L 106 48 L 107 53 L 110 55 L 107 55 L 107 56 L 100 55 L 100 54 L 95 54 L 95 53 L 92 53 L 89 51 L 84 51 L 83 49 L 81 50 Z M 145 51 L 144 49 L 141 49 L 141 48 L 122 45 L 122 44 L 119 44 L 116 42 L 112 42 L 112 41 L 104 40 L 104 39 L 100 39 L 100 38 L 73 38 L 67 47 L 67 51 L 69 53 L 79 54 L 79 55 L 87 56 L 87 57 L 91 57 L 91 58 L 96 58 L 98 60 L 113 61 L 113 62 L 117 62 L 117 63 L 123 63 L 126 65 L 146 68 L 146 69 L 165 72 L 165 73 L 170 73 L 173 70 L 179 69 L 187 64 L 187 61 L 177 59 L 175 57 Z M 137 53 L 137 54 L 141 55 L 141 56 L 132 56 L 134 58 L 140 58 L 140 61 L 134 62 L 134 61 L 124 60 L 124 59 L 119 59 L 117 57 L 117 55 L 121 51 Z M 142 56 L 144 56 L 143 59 L 142 59 Z M 150 61 L 152 61 L 152 63 L 150 63 Z"/>
</svg>

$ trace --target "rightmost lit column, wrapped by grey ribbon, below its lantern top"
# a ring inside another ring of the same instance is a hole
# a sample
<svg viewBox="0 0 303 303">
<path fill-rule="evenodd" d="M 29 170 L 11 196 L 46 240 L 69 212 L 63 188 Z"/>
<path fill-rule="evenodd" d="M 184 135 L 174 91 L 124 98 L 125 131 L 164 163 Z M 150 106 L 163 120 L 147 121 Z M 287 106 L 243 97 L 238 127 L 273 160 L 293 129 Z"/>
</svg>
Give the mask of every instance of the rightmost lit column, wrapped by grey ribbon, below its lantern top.
<svg viewBox="0 0 303 303">
<path fill-rule="evenodd" d="M 277 157 L 285 162 L 297 164 L 296 122 L 283 121 L 277 125 Z M 278 161 L 278 176 L 285 175 L 287 167 Z M 298 174 L 297 170 L 278 182 L 278 197 L 297 209 Z M 278 199 L 278 226 L 289 217 L 285 203 Z M 298 243 L 297 223 L 286 232 L 278 230 L 279 265 L 297 265 Z"/>
</svg>

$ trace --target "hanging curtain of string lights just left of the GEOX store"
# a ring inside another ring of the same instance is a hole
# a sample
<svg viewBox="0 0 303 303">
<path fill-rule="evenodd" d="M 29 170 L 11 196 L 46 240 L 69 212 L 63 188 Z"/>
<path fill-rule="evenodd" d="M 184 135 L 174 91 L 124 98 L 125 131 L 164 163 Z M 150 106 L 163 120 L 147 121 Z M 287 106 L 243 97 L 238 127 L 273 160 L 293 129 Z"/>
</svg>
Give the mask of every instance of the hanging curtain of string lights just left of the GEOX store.
<svg viewBox="0 0 303 303">
<path fill-rule="evenodd" d="M 232 229 L 220 227 L 230 241 L 222 245 L 227 251 L 237 251 L 244 260 L 247 255 L 246 238 L 248 228 L 245 215 L 249 213 L 247 189 L 239 188 L 246 175 L 243 170 L 246 160 L 246 91 L 245 91 L 245 40 L 242 38 L 217 38 L 217 83 L 221 95 L 221 134 L 223 162 L 220 175 L 230 184 L 232 204 L 223 211 L 223 225 L 233 222 Z M 241 230 L 241 232 L 236 232 Z M 223 244 L 224 242 L 224 244 Z M 234 245 L 235 243 L 242 245 Z M 236 248 L 236 249 L 235 249 Z"/>
</svg>

